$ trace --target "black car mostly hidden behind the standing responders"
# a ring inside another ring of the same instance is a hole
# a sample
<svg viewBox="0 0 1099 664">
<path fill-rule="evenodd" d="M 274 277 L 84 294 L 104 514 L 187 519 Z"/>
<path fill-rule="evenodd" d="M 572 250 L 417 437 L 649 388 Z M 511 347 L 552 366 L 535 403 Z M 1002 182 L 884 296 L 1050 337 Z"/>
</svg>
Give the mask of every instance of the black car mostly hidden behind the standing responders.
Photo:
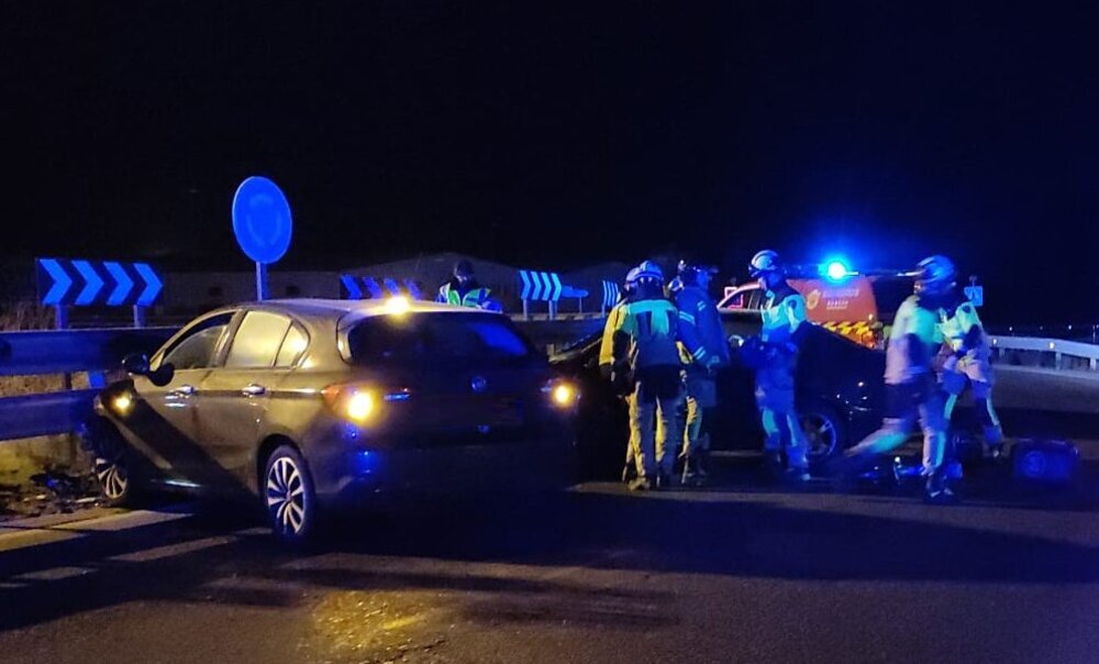
<svg viewBox="0 0 1099 664">
<path fill-rule="evenodd" d="M 737 361 L 735 347 L 758 331 L 758 313 L 724 317 L 734 345 L 732 366 L 718 376 L 719 407 L 711 442 L 715 450 L 753 450 L 763 444 L 756 412 L 753 373 Z M 554 357 L 559 375 L 577 381 L 584 399 L 577 414 L 581 467 L 588 477 L 610 477 L 621 471 L 626 414 L 621 399 L 599 374 L 599 336 L 592 335 Z M 811 325 L 797 375 L 797 403 L 817 466 L 859 441 L 881 421 L 885 354 Z"/>
</svg>

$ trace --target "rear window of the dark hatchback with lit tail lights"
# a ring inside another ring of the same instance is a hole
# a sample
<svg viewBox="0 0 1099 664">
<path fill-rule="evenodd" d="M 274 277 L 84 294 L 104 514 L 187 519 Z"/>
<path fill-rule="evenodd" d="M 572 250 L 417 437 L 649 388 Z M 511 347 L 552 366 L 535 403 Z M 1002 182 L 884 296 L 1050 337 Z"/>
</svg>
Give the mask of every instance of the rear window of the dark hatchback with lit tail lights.
<svg viewBox="0 0 1099 664">
<path fill-rule="evenodd" d="M 534 354 L 510 320 L 486 313 L 373 317 L 347 333 L 347 343 L 356 364 L 521 362 Z"/>
</svg>

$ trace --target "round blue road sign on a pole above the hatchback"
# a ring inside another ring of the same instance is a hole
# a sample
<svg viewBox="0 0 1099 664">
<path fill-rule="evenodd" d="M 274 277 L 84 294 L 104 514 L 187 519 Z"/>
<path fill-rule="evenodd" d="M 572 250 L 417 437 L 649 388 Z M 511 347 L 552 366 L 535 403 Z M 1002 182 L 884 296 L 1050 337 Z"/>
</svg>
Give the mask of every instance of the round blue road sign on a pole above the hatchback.
<svg viewBox="0 0 1099 664">
<path fill-rule="evenodd" d="M 256 263 L 269 264 L 290 248 L 290 203 L 278 185 L 260 176 L 241 182 L 233 197 L 233 233 Z"/>
</svg>

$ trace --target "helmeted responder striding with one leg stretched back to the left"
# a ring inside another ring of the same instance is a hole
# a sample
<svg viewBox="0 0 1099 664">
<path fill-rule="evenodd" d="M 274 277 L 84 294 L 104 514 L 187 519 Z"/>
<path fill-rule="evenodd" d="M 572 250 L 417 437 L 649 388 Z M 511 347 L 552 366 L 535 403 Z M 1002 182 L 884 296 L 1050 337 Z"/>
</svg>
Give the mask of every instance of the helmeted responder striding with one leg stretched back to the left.
<svg viewBox="0 0 1099 664">
<path fill-rule="evenodd" d="M 925 498 L 945 501 L 954 497 L 943 465 L 946 422 L 932 366 L 943 343 L 939 310 L 954 278 L 954 265 L 945 256 L 920 262 L 914 292 L 897 310 L 886 346 L 885 421 L 881 429 L 847 451 L 840 463 L 843 474 L 850 475 L 876 455 L 904 443 L 919 420 L 923 429 Z"/>
</svg>

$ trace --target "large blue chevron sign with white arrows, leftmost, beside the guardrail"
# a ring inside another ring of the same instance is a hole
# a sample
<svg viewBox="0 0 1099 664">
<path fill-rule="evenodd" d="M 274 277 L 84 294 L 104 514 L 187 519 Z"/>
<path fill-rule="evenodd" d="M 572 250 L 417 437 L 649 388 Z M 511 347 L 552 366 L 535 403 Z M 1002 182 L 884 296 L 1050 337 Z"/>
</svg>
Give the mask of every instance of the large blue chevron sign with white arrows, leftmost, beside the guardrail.
<svg viewBox="0 0 1099 664">
<path fill-rule="evenodd" d="M 146 263 L 38 258 L 38 300 L 77 307 L 149 307 L 164 281 Z"/>
</svg>

